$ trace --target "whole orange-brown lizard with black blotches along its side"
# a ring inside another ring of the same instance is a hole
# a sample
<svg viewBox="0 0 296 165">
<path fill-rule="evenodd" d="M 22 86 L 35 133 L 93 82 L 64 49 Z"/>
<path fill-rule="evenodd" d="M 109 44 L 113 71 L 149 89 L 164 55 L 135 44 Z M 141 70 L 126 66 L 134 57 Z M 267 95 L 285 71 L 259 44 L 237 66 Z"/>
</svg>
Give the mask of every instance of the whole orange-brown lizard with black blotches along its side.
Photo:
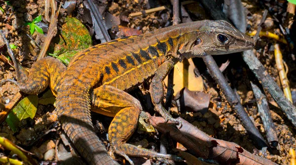
<svg viewBox="0 0 296 165">
<path fill-rule="evenodd" d="M 154 110 L 167 121 L 181 125 L 162 106 L 161 83 L 183 59 L 250 50 L 254 40 L 225 21 L 196 21 L 137 36 L 121 37 L 77 53 L 66 68 L 59 60 L 45 57 L 26 72 L 11 57 L 21 92 L 36 95 L 50 87 L 62 129 L 90 165 L 118 165 L 93 130 L 90 110 L 114 117 L 109 141 L 115 154 L 124 157 L 180 157 L 160 154 L 126 143 L 135 132 L 142 106 L 127 92 L 150 80 Z M 7 48 L 9 49 L 9 48 Z"/>
</svg>

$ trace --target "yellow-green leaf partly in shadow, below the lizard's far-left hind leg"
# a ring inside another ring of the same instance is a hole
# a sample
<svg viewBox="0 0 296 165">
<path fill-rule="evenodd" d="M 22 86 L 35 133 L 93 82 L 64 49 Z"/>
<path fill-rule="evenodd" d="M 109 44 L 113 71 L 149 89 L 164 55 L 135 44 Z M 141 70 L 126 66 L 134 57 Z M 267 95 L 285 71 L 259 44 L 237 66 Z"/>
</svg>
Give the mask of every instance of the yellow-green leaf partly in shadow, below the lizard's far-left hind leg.
<svg viewBox="0 0 296 165">
<path fill-rule="evenodd" d="M 15 132 L 19 121 L 30 117 L 34 118 L 38 105 L 37 95 L 29 95 L 28 97 L 22 99 L 8 114 L 5 119 L 9 127 Z"/>
</svg>

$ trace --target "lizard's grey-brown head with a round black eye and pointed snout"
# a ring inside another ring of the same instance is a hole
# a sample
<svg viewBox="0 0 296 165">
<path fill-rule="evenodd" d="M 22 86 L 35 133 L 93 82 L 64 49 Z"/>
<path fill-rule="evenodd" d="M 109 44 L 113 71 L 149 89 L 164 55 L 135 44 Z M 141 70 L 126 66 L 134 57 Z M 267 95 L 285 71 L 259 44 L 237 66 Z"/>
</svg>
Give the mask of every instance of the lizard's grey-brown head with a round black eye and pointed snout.
<svg viewBox="0 0 296 165">
<path fill-rule="evenodd" d="M 255 46 L 255 41 L 250 36 L 222 20 L 204 20 L 196 33 L 195 37 L 191 36 L 191 48 L 186 52 L 190 57 L 242 52 Z"/>
</svg>

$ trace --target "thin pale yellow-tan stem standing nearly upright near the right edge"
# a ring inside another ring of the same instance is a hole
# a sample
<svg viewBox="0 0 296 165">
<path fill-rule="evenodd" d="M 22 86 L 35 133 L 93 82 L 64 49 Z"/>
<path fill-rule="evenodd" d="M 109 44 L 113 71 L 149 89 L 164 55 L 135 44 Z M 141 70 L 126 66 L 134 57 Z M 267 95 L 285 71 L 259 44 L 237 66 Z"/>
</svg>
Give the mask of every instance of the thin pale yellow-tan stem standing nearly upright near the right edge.
<svg viewBox="0 0 296 165">
<path fill-rule="evenodd" d="M 276 67 L 279 71 L 279 76 L 280 76 L 280 80 L 281 80 L 284 94 L 287 97 L 287 99 L 289 99 L 291 102 L 293 102 L 291 90 L 290 90 L 290 86 L 289 86 L 289 80 L 287 78 L 287 73 L 285 72 L 285 67 L 284 67 L 284 63 L 283 63 L 283 56 L 282 56 L 279 44 L 274 45 L 274 56 L 275 56 Z"/>
</svg>

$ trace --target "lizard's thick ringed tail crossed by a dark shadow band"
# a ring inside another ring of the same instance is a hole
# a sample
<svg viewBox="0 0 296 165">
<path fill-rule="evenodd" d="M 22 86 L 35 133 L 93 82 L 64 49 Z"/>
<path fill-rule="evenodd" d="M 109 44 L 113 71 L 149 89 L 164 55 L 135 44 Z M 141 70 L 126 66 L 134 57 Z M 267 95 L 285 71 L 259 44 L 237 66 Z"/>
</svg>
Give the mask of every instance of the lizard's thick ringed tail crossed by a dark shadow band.
<svg viewBox="0 0 296 165">
<path fill-rule="evenodd" d="M 88 93 L 88 89 L 73 86 L 59 91 L 56 110 L 62 128 L 90 165 L 119 165 L 94 132 Z"/>
</svg>

